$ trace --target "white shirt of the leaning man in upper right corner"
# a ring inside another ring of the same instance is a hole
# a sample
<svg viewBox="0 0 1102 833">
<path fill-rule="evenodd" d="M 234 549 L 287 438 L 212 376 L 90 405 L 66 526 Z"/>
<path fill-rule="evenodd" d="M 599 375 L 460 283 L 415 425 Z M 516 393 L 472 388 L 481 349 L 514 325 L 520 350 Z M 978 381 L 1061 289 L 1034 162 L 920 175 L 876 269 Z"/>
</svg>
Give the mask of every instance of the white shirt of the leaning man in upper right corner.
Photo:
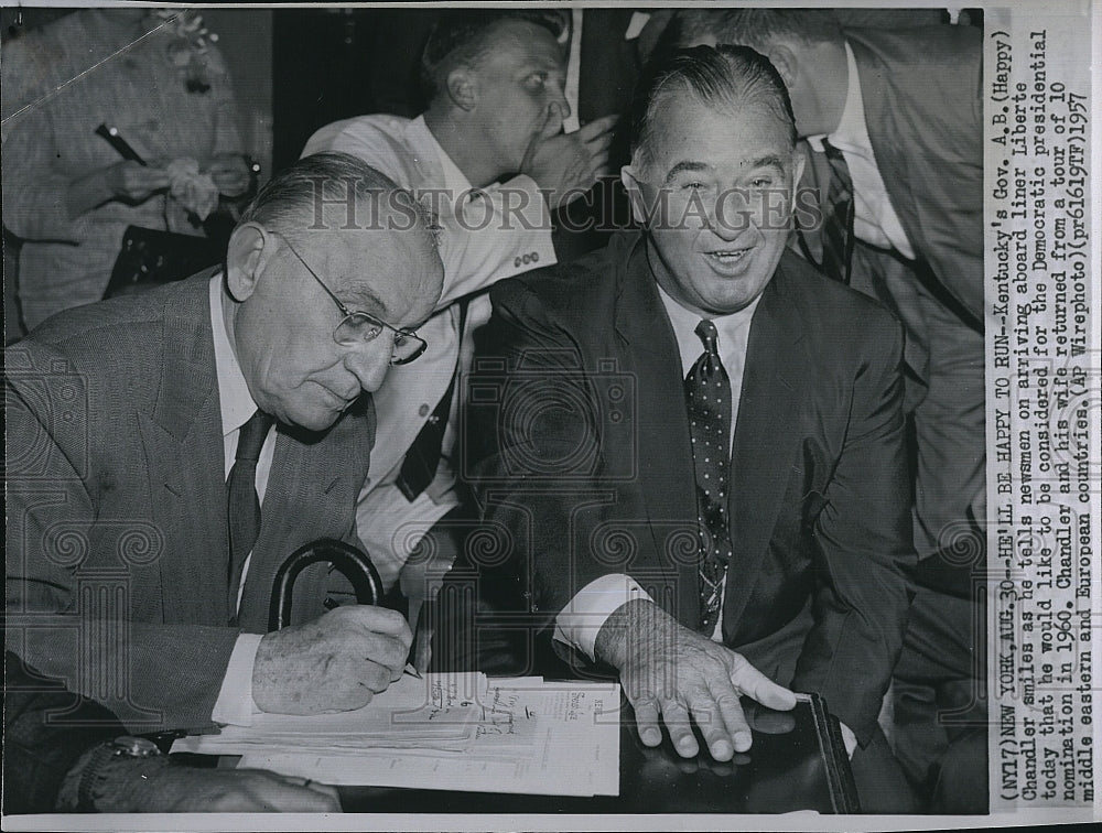
<svg viewBox="0 0 1102 833">
<path fill-rule="evenodd" d="M 823 139 L 842 151 L 853 181 L 853 234 L 858 240 L 880 249 L 895 249 L 908 260 L 915 259 L 915 247 L 904 231 L 899 216 L 892 207 L 888 190 L 884 185 L 873 141 L 865 125 L 865 104 L 861 95 L 861 78 L 853 50 L 845 44 L 849 85 L 842 119 L 833 133 L 809 136 L 808 143 L 823 150 Z"/>
</svg>

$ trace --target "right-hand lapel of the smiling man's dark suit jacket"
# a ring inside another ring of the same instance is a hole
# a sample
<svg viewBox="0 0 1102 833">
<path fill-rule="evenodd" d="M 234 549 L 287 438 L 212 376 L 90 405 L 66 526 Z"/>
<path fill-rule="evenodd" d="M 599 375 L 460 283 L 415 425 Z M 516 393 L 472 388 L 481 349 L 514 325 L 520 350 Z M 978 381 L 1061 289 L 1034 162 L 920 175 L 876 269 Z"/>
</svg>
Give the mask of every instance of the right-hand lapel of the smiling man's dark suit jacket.
<svg viewBox="0 0 1102 833">
<path fill-rule="evenodd" d="M 724 636 L 733 632 L 773 537 L 800 436 L 807 356 L 797 306 L 786 298 L 785 260 L 750 324 L 731 454 L 728 511 L 734 558 L 727 571 Z"/>
</svg>

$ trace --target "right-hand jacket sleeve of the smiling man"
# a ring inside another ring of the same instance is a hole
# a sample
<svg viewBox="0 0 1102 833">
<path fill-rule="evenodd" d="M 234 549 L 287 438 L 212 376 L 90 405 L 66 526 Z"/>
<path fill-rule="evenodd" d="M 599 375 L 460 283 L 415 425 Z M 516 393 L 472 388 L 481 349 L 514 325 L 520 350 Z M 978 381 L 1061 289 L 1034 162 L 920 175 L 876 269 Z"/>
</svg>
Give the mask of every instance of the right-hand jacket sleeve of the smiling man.
<svg viewBox="0 0 1102 833">
<path fill-rule="evenodd" d="M 909 585 L 911 487 L 904 446 L 903 334 L 868 316 L 842 453 L 814 521 L 815 624 L 792 688 L 818 691 L 867 743 L 903 645 Z"/>
</svg>

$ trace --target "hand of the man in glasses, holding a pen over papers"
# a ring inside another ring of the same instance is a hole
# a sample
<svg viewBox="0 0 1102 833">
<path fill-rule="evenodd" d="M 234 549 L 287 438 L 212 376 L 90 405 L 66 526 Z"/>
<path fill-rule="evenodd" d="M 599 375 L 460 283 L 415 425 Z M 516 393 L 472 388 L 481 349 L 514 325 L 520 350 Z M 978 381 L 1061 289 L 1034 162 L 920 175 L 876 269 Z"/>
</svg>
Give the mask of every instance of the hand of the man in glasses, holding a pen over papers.
<svg viewBox="0 0 1102 833">
<path fill-rule="evenodd" d="M 367 605 L 273 631 L 257 649 L 252 699 L 279 714 L 360 708 L 402 675 L 412 638 L 401 614 Z"/>
</svg>

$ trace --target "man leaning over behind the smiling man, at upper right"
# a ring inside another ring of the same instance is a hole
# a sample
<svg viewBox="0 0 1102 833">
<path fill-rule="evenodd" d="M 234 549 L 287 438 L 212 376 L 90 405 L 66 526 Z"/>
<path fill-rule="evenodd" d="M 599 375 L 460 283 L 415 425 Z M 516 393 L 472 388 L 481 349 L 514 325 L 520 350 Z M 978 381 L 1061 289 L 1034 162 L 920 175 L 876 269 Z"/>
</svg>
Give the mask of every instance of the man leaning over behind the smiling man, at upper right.
<svg viewBox="0 0 1102 833">
<path fill-rule="evenodd" d="M 986 538 L 981 33 L 843 30 L 829 10 L 727 9 L 681 11 L 667 35 L 680 46 L 745 44 L 774 63 L 800 136 L 822 151 L 811 156 L 828 219 L 821 235 L 803 235 L 808 256 L 907 328 L 920 561 L 894 740 L 934 810 L 984 812 L 984 631 L 972 601 Z M 830 253 L 839 184 L 847 258 Z M 961 566 L 959 550 L 979 555 Z"/>
</svg>

